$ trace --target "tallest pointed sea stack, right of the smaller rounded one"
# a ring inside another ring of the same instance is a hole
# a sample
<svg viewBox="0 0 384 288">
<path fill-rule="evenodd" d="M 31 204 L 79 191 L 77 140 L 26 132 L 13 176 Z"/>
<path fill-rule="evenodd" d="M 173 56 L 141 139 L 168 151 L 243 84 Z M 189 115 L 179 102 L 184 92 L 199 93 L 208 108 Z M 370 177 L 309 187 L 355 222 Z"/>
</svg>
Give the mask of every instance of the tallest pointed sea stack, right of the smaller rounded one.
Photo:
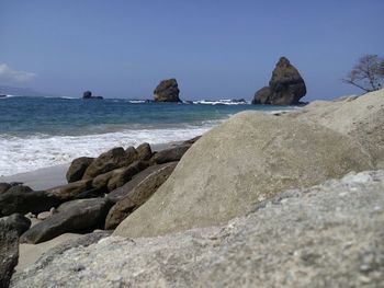
<svg viewBox="0 0 384 288">
<path fill-rule="evenodd" d="M 297 105 L 305 94 L 306 87 L 302 76 L 287 58 L 281 57 L 269 87 L 255 93 L 252 104 Z"/>
</svg>

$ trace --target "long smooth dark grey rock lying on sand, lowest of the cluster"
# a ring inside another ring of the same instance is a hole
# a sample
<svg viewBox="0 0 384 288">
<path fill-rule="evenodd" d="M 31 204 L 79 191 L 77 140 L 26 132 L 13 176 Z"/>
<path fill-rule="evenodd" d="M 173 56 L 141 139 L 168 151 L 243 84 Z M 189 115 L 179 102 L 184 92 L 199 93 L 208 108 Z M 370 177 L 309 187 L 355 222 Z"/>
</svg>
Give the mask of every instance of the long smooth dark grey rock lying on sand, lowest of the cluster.
<svg viewBox="0 0 384 288">
<path fill-rule="evenodd" d="M 111 208 L 106 198 L 84 199 L 77 205 L 54 214 L 46 220 L 35 224 L 21 235 L 22 243 L 39 243 L 66 232 L 102 227 Z"/>
</svg>

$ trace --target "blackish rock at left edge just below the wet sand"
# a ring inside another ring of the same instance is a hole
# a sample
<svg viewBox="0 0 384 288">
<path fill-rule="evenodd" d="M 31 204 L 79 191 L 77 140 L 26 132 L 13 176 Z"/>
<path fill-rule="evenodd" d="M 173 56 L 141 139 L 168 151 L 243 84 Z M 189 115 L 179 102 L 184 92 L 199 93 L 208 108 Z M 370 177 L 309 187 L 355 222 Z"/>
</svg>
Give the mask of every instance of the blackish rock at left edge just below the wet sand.
<svg viewBox="0 0 384 288">
<path fill-rule="evenodd" d="M 27 186 L 13 186 L 0 194 L 0 216 L 11 214 L 39 214 L 59 205 L 60 199 L 45 191 L 32 191 Z"/>
</svg>

